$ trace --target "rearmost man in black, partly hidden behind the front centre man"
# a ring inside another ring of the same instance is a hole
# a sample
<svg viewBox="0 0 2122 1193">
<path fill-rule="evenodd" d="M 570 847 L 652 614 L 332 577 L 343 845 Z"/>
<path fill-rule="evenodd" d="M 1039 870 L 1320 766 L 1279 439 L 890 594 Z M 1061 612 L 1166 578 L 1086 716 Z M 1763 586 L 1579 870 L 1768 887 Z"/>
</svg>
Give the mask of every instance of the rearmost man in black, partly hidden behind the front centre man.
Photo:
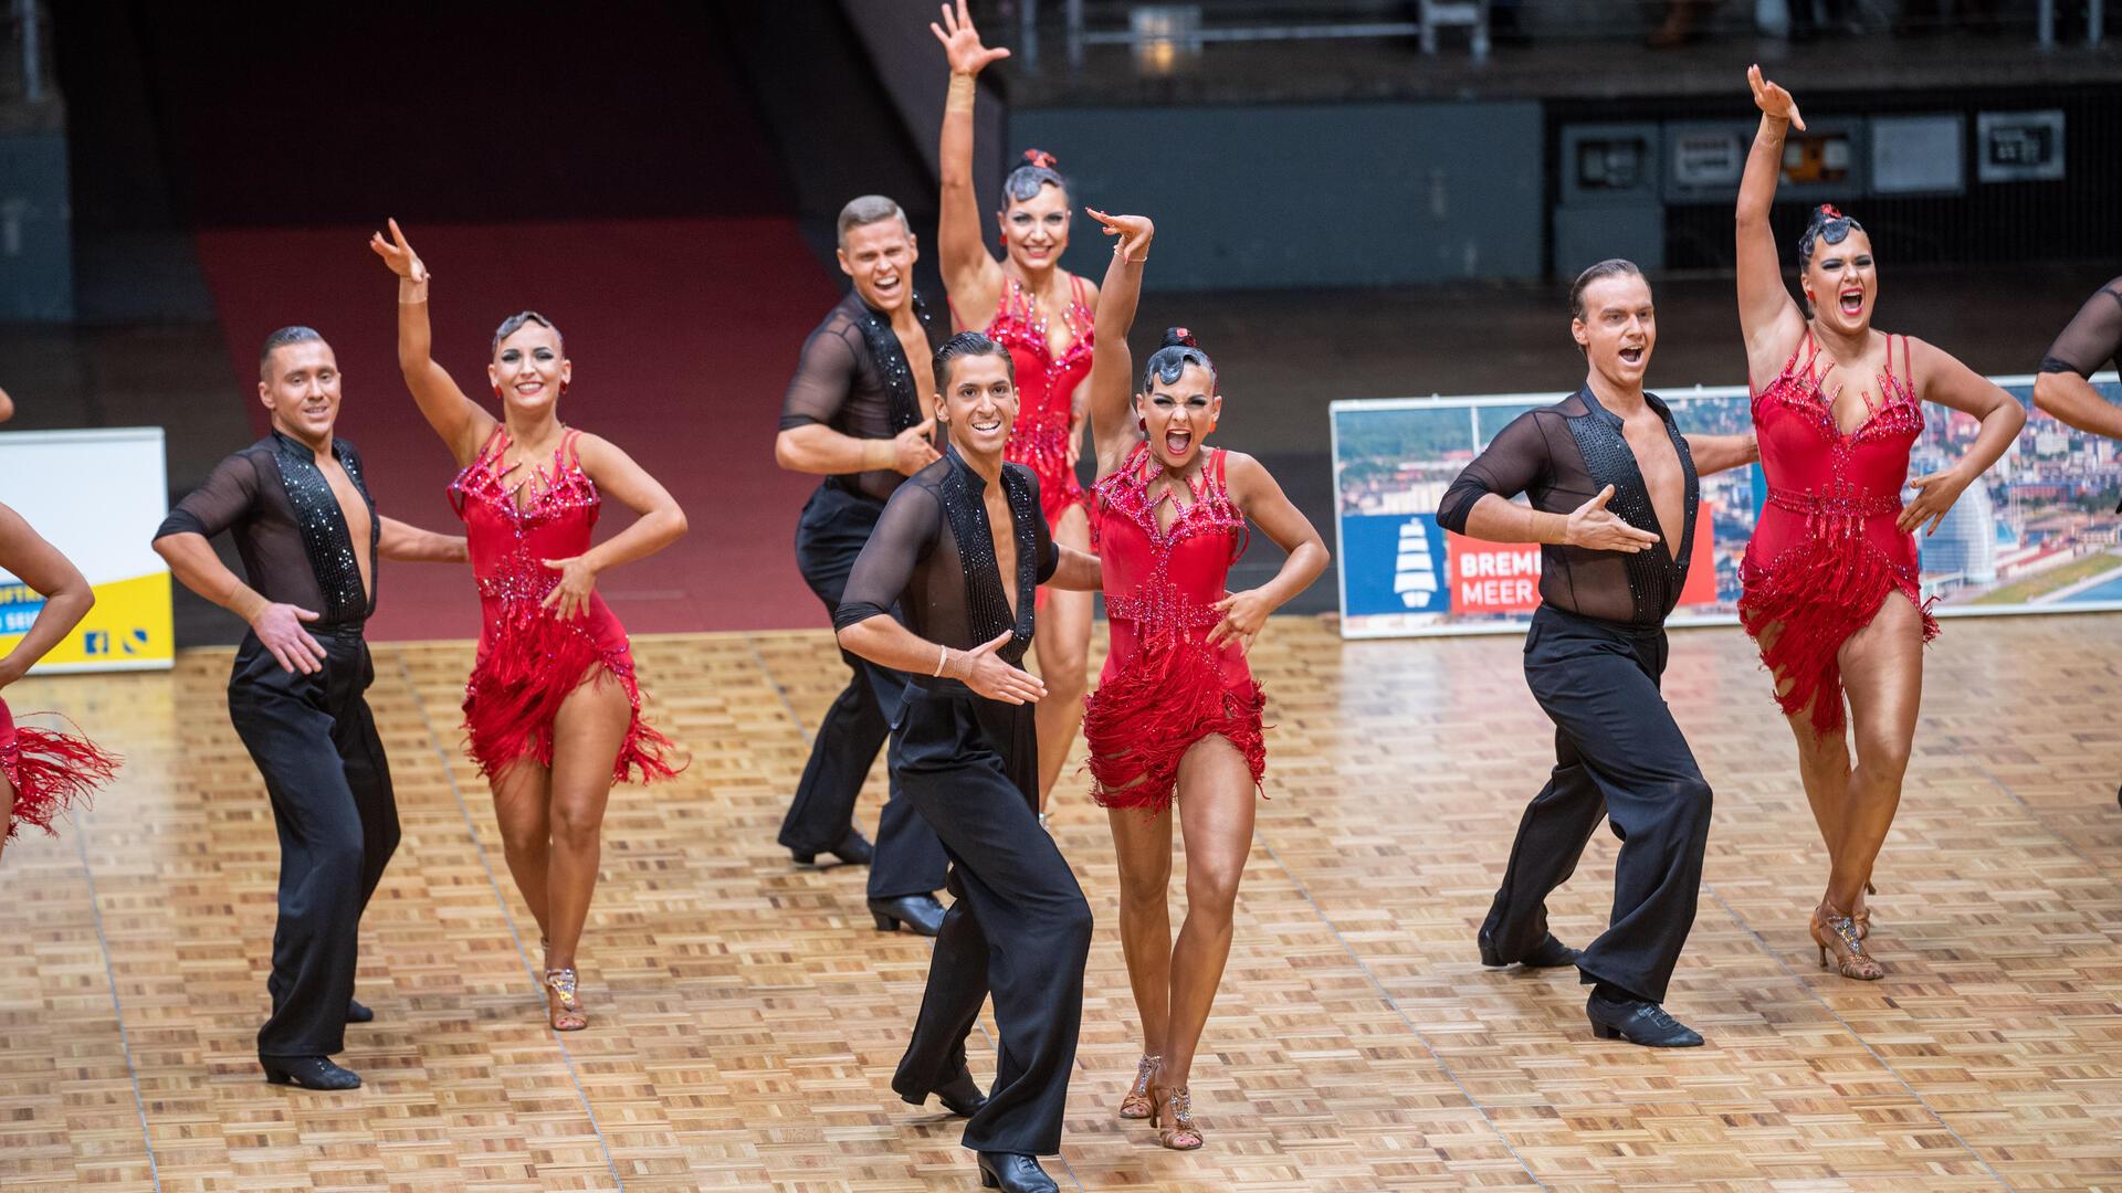
<svg viewBox="0 0 2122 1193">
<path fill-rule="evenodd" d="M 942 329 L 915 295 L 915 236 L 883 195 L 840 208 L 840 272 L 853 291 L 802 346 L 796 380 L 781 399 L 775 459 L 823 476 L 796 524 L 796 567 L 830 618 L 847 571 L 870 541 L 885 499 L 936 461 L 929 442 L 929 376 Z M 944 855 L 936 830 L 900 796 L 876 819 L 876 849 L 855 828 L 855 796 L 891 732 L 906 677 L 840 652 L 853 675 L 811 741 L 811 762 L 781 822 L 781 845 L 808 864 L 819 853 L 870 864 L 870 915 L 879 930 L 906 923 L 923 936 L 942 926 Z"/>
</svg>

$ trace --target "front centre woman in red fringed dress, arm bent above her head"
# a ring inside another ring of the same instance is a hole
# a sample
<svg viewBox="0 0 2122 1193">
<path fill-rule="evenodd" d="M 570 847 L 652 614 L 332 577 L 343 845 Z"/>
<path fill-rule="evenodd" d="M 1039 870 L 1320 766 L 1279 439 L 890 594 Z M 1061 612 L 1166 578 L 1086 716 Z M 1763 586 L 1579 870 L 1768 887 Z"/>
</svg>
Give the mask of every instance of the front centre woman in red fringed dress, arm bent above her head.
<svg viewBox="0 0 2122 1193">
<path fill-rule="evenodd" d="M 1112 652 L 1082 726 L 1093 796 L 1112 822 L 1120 947 L 1142 1015 L 1142 1064 L 1120 1117 L 1146 1117 L 1163 1146 L 1188 1151 L 1201 1146 L 1201 1129 L 1186 1078 L 1231 955 L 1231 904 L 1267 766 L 1263 694 L 1246 652 L 1267 616 L 1326 569 L 1326 543 L 1258 461 L 1203 448 L 1222 393 L 1193 335 L 1165 333 L 1133 393 L 1127 329 L 1154 229 L 1142 217 L 1091 214 L 1120 238 L 1091 369 L 1091 537 L 1106 569 Z M 1229 592 L 1248 518 L 1288 558 L 1260 588 Z M 1173 805 L 1186 834 L 1186 923 L 1176 947 Z"/>
</svg>

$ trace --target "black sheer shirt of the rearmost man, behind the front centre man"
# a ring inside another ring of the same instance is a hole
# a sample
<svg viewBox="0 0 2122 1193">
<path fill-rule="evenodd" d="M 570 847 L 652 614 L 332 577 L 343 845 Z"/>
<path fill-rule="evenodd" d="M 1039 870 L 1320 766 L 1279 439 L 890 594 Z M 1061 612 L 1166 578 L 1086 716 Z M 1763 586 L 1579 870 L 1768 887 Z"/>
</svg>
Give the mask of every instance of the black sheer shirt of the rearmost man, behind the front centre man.
<svg viewBox="0 0 2122 1193">
<path fill-rule="evenodd" d="M 934 350 L 946 333 L 936 327 L 921 295 L 912 304 Z M 796 376 L 781 397 L 781 429 L 823 425 L 855 439 L 891 439 L 917 422 L 921 395 L 891 321 L 849 291 L 802 344 Z M 828 484 L 883 501 L 902 480 L 893 469 L 874 469 L 836 476 Z"/>
</svg>

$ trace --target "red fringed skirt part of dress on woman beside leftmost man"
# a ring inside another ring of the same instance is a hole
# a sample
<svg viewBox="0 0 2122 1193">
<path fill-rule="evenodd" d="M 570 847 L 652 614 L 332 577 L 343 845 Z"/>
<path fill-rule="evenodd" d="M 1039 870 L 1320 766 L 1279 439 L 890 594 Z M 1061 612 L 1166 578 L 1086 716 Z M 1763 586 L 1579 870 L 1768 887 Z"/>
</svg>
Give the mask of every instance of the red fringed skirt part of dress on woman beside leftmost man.
<svg viewBox="0 0 2122 1193">
<path fill-rule="evenodd" d="M 501 777 L 522 758 L 552 766 L 552 724 L 560 705 L 598 671 L 626 690 L 632 720 L 611 764 L 613 783 L 654 783 L 677 775 L 664 758 L 675 749 L 641 715 L 641 686 L 626 630 L 601 601 L 562 622 L 535 601 L 490 603 L 480 660 L 465 681 L 465 737 L 486 779 Z"/>
</svg>

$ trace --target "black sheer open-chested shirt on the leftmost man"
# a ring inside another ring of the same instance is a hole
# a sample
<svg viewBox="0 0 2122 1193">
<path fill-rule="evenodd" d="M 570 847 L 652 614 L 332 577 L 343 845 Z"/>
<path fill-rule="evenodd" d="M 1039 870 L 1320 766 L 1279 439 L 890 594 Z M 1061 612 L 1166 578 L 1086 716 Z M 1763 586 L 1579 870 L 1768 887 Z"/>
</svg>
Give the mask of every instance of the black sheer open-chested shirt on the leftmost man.
<svg viewBox="0 0 2122 1193">
<path fill-rule="evenodd" d="M 369 552 L 373 577 L 382 518 L 361 478 L 361 452 L 333 437 L 331 454 L 369 507 L 369 541 L 361 548 Z M 346 514 L 316 467 L 316 454 L 278 431 L 214 465 L 206 484 L 176 503 L 155 537 L 187 531 L 208 539 L 229 531 L 250 588 L 267 601 L 318 613 L 312 628 L 361 624 L 376 611 L 373 584 L 363 592 Z"/>
</svg>

